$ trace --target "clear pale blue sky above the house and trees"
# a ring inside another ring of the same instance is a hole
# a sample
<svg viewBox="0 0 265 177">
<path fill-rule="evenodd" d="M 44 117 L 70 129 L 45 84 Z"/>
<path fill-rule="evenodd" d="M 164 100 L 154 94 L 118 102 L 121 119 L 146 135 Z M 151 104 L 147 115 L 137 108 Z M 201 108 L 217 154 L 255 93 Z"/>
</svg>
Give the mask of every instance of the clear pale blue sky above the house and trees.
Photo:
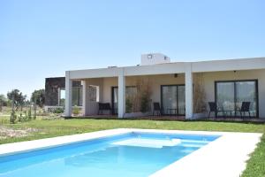
<svg viewBox="0 0 265 177">
<path fill-rule="evenodd" d="M 0 94 L 67 70 L 265 57 L 264 0 L 0 0 Z"/>
</svg>

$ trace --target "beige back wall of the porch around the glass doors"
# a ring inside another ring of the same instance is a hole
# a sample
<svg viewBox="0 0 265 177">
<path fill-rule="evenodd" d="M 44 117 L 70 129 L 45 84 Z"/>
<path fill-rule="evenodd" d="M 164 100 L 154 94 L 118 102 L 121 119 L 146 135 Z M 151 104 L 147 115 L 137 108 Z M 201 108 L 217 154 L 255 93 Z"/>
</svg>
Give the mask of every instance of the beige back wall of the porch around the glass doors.
<svg viewBox="0 0 265 177">
<path fill-rule="evenodd" d="M 195 74 L 195 73 L 193 73 Z M 126 86 L 134 86 L 138 79 L 147 79 L 152 83 L 152 102 L 160 102 L 161 85 L 185 84 L 185 74 L 178 74 L 175 78 L 174 74 L 148 75 L 148 76 L 127 76 Z M 194 77 L 195 79 L 196 77 Z M 229 72 L 209 72 L 202 73 L 204 89 L 206 92 L 206 103 L 215 101 L 215 81 L 231 81 L 231 80 L 254 80 L 258 79 L 259 83 L 259 108 L 260 117 L 265 118 L 265 69 L 249 70 L 249 71 L 233 71 Z M 89 79 L 91 85 L 100 85 L 101 102 L 111 103 L 111 87 L 117 87 L 117 77 Z M 94 106 L 95 107 L 95 106 Z M 87 109 L 89 109 L 87 107 Z M 91 109 L 91 108 L 90 108 Z M 94 108 L 97 111 L 97 107 Z M 94 111 L 94 112 L 95 112 Z"/>
</svg>

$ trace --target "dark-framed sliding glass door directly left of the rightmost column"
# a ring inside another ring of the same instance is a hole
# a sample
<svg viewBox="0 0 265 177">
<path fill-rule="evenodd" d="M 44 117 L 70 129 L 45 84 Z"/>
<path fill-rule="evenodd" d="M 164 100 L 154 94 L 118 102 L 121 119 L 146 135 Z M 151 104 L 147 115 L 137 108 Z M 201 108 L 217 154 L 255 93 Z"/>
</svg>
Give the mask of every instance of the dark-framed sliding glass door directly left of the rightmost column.
<svg viewBox="0 0 265 177">
<path fill-rule="evenodd" d="M 185 86 L 161 86 L 161 103 L 165 115 L 185 115 Z"/>
</svg>

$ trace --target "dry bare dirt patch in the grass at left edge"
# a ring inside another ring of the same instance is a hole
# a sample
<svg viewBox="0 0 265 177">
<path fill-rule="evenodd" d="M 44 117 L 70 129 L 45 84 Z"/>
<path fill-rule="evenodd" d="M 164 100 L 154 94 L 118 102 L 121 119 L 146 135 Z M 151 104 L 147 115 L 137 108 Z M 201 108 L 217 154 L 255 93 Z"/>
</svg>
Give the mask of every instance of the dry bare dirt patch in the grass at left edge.
<svg viewBox="0 0 265 177">
<path fill-rule="evenodd" d="M 27 128 L 27 129 L 12 129 L 10 127 L 0 126 L 0 140 L 6 138 L 17 138 L 31 135 L 33 132 L 38 132 L 38 129 Z"/>
</svg>

